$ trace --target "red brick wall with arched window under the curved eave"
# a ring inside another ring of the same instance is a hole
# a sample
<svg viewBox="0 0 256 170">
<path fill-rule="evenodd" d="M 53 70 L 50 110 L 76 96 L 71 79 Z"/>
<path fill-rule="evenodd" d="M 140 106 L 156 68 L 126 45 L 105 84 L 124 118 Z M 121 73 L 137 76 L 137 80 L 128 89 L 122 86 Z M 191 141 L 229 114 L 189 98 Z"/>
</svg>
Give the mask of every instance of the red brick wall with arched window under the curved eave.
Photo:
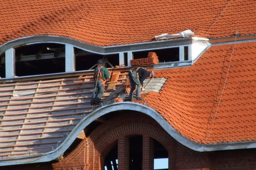
<svg viewBox="0 0 256 170">
<path fill-rule="evenodd" d="M 60 169 L 103 169 L 104 157 L 118 144 L 118 169 L 129 166 L 129 142 L 132 135 L 143 136 L 143 170 L 153 170 L 153 139 L 159 141 L 168 151 L 169 169 L 255 169 L 255 149 L 228 150 L 215 152 L 193 151 L 173 139 L 152 118 L 129 113 L 117 115 L 102 123 L 61 163 L 53 164 Z M 64 168 L 63 168 L 64 167 Z"/>
</svg>

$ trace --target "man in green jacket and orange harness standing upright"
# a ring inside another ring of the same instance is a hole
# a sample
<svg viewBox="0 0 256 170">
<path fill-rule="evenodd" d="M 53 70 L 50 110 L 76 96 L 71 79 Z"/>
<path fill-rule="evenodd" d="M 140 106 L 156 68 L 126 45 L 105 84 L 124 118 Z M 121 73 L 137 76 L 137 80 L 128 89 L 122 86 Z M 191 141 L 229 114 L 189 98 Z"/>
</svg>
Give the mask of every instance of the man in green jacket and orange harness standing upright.
<svg viewBox="0 0 256 170">
<path fill-rule="evenodd" d="M 109 81 L 109 72 L 106 67 L 103 67 L 102 61 L 97 61 L 97 67 L 94 69 L 94 76 L 93 79 L 94 83 L 94 90 L 91 97 L 91 106 L 98 105 L 99 100 L 103 96 L 104 89 L 105 89 L 105 82 Z"/>
</svg>

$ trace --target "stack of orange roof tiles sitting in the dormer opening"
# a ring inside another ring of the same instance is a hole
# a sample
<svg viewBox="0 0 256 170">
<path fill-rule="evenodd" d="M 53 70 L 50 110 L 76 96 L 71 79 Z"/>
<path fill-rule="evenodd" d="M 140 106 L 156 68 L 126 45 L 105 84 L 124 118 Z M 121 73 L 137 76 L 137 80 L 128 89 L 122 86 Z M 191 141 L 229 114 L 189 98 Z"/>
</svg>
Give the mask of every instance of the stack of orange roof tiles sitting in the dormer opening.
<svg viewBox="0 0 256 170">
<path fill-rule="evenodd" d="M 149 52 L 147 58 L 130 60 L 131 65 L 147 65 L 159 63 L 158 56 L 154 52 Z"/>
</svg>

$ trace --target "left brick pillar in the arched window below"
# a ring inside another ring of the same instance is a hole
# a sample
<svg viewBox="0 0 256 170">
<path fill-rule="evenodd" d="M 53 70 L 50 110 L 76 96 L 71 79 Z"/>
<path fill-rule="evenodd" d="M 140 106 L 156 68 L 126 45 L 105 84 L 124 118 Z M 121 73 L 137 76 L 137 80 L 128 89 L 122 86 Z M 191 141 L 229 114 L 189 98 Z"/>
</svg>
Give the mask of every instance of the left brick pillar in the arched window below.
<svg viewBox="0 0 256 170">
<path fill-rule="evenodd" d="M 118 170 L 129 169 L 129 138 L 118 139 Z"/>
</svg>

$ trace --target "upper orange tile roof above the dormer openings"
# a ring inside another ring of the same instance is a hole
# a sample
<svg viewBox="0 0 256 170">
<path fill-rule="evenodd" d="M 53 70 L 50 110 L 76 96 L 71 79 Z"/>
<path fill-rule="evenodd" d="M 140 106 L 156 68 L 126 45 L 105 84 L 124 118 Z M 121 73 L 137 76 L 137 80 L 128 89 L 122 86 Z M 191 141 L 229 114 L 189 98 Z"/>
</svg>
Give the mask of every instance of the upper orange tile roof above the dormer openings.
<svg viewBox="0 0 256 170">
<path fill-rule="evenodd" d="M 190 29 L 209 38 L 255 34 L 255 1 L 2 0 L 0 44 L 55 35 L 99 46 L 151 41 Z"/>
</svg>

